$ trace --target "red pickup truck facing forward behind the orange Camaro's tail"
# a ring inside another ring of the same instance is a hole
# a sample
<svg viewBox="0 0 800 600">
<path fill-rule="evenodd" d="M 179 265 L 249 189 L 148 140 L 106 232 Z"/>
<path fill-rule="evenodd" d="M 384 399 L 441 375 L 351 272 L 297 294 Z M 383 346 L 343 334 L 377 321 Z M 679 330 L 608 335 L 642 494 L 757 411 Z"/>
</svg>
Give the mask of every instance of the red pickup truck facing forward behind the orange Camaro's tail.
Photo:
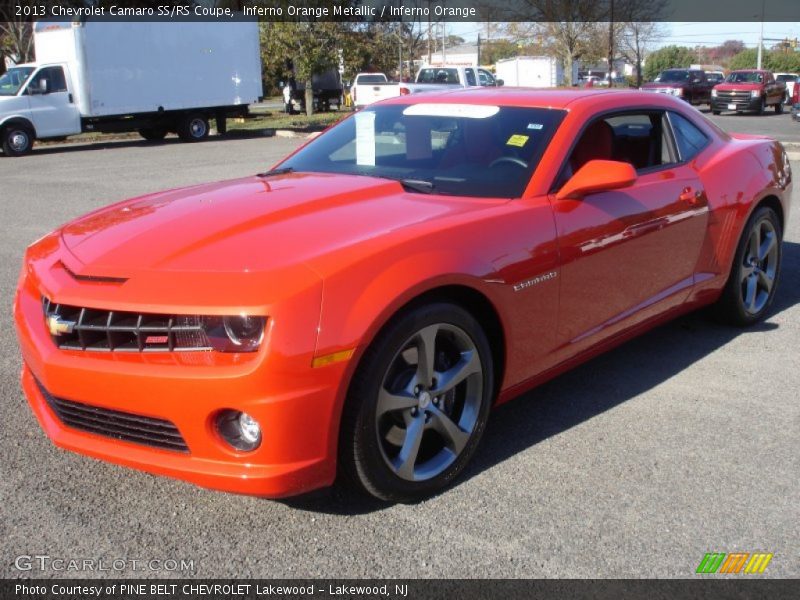
<svg viewBox="0 0 800 600">
<path fill-rule="evenodd" d="M 763 115 L 768 106 L 774 106 L 776 113 L 782 113 L 785 98 L 786 84 L 776 81 L 772 73 L 743 69 L 731 72 L 711 90 L 711 112 L 718 115 L 723 110 L 750 110 Z"/>
</svg>

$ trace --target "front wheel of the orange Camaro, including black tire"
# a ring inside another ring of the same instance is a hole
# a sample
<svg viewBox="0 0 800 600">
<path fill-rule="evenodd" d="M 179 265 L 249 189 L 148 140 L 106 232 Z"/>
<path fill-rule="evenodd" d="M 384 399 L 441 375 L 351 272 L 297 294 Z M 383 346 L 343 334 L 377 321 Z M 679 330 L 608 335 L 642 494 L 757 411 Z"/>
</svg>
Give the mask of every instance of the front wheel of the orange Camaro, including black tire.
<svg viewBox="0 0 800 600">
<path fill-rule="evenodd" d="M 433 341 L 426 343 L 426 337 Z M 418 383 L 424 379 L 420 373 L 431 372 L 421 366 L 427 364 L 421 358 L 424 347 L 435 348 L 430 387 Z M 416 363 L 408 362 L 409 353 Z M 455 377 L 458 383 L 448 388 L 452 375 L 447 374 L 456 372 L 468 374 Z M 494 396 L 493 372 L 486 334 L 460 306 L 428 304 L 396 316 L 367 349 L 353 376 L 342 415 L 342 474 L 362 491 L 389 502 L 416 502 L 445 488 L 467 465 L 483 435 Z M 437 389 L 448 391 L 437 395 Z M 398 407 L 398 399 L 410 404 Z M 381 410 L 381 404 L 391 408 Z M 404 451 L 410 460 L 403 459 Z"/>
</svg>

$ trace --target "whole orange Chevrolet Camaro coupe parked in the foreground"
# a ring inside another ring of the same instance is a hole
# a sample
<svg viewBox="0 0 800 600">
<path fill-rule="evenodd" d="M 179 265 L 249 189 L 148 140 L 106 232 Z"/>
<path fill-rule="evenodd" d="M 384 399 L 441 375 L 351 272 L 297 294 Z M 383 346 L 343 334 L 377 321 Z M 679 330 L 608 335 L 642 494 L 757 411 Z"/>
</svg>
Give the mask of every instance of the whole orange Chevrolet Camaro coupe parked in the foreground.
<svg viewBox="0 0 800 600">
<path fill-rule="evenodd" d="M 414 501 L 464 469 L 493 406 L 703 305 L 762 319 L 790 187 L 780 144 L 668 96 L 400 97 L 271 171 L 30 246 L 22 385 L 83 454 Z"/>
</svg>

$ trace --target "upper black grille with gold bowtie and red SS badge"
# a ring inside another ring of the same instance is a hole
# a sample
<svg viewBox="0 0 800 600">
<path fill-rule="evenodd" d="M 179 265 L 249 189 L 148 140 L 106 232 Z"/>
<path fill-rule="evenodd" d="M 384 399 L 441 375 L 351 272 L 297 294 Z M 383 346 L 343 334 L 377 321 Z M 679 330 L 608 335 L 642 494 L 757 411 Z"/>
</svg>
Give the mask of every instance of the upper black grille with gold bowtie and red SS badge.
<svg viewBox="0 0 800 600">
<path fill-rule="evenodd" d="M 194 315 L 96 310 L 42 298 L 46 326 L 63 350 L 173 352 L 211 350 L 206 324 Z"/>
</svg>

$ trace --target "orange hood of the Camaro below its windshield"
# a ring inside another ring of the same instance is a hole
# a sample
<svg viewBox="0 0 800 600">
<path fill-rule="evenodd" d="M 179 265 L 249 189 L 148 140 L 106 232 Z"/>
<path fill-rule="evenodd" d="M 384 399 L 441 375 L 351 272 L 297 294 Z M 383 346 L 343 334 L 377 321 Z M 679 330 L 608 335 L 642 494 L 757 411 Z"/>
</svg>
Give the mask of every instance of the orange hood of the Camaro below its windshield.
<svg viewBox="0 0 800 600">
<path fill-rule="evenodd" d="M 407 193 L 396 181 L 292 173 L 125 201 L 64 226 L 81 274 L 277 270 L 486 201 Z"/>
</svg>

